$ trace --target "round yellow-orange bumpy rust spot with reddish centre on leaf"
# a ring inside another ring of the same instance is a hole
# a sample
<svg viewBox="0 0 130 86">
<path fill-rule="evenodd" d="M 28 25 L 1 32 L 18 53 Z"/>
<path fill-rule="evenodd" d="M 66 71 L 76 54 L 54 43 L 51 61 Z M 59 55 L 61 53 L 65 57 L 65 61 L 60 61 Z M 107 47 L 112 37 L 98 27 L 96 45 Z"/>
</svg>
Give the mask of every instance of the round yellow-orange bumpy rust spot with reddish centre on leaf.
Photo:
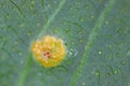
<svg viewBox="0 0 130 86">
<path fill-rule="evenodd" d="M 62 39 L 46 35 L 31 45 L 36 60 L 44 67 L 56 67 L 65 58 L 66 51 Z"/>
</svg>

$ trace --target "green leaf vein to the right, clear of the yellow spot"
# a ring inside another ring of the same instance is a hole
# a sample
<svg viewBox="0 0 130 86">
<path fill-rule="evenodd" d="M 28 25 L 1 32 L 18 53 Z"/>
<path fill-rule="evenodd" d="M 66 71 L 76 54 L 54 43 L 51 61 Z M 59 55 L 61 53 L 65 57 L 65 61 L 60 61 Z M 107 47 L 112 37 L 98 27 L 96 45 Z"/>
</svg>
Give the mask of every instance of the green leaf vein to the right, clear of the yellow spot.
<svg viewBox="0 0 130 86">
<path fill-rule="evenodd" d="M 115 3 L 115 0 L 109 0 L 107 6 L 103 10 L 101 15 L 99 16 L 99 18 L 98 18 L 98 20 L 95 23 L 94 28 L 90 32 L 90 35 L 89 35 L 89 39 L 88 39 L 88 43 L 87 43 L 87 45 L 84 47 L 84 54 L 82 55 L 80 64 L 78 66 L 76 72 L 74 73 L 74 76 L 73 76 L 72 82 L 70 82 L 70 86 L 76 86 L 78 78 L 81 76 L 82 70 L 86 67 L 87 59 L 89 57 L 90 49 L 91 49 L 91 47 L 92 47 L 92 45 L 94 43 L 94 40 L 95 40 L 95 38 L 98 35 L 98 32 L 101 29 L 101 26 L 102 26 L 102 24 L 104 22 L 104 17 L 109 12 L 109 10 L 114 5 L 114 3 Z"/>
</svg>

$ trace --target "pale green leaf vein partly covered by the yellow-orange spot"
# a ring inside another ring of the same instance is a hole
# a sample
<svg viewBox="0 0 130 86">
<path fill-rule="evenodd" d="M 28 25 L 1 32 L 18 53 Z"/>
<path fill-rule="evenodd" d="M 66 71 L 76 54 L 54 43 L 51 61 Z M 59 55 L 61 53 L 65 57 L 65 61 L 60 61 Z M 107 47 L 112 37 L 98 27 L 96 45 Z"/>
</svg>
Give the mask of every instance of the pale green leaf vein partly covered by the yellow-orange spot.
<svg viewBox="0 0 130 86">
<path fill-rule="evenodd" d="M 58 5 L 57 9 L 54 11 L 54 13 L 50 16 L 50 18 L 48 19 L 48 22 L 46 23 L 46 25 L 43 26 L 43 29 L 40 31 L 40 33 L 34 38 L 32 42 L 39 38 L 41 38 L 43 35 L 43 33 L 46 32 L 46 30 L 49 28 L 50 24 L 54 20 L 54 17 L 58 14 L 58 12 L 61 11 L 61 9 L 63 8 L 63 5 L 65 4 L 66 0 L 62 0 Z M 23 70 L 23 72 L 20 75 L 20 78 L 16 83 L 16 86 L 24 86 L 25 80 L 27 77 L 27 74 L 29 72 L 29 69 L 31 67 L 31 62 L 32 62 L 32 56 L 31 56 L 31 51 L 30 51 L 30 46 L 29 46 L 29 54 L 27 57 L 27 64 L 25 66 L 25 69 Z"/>
</svg>

